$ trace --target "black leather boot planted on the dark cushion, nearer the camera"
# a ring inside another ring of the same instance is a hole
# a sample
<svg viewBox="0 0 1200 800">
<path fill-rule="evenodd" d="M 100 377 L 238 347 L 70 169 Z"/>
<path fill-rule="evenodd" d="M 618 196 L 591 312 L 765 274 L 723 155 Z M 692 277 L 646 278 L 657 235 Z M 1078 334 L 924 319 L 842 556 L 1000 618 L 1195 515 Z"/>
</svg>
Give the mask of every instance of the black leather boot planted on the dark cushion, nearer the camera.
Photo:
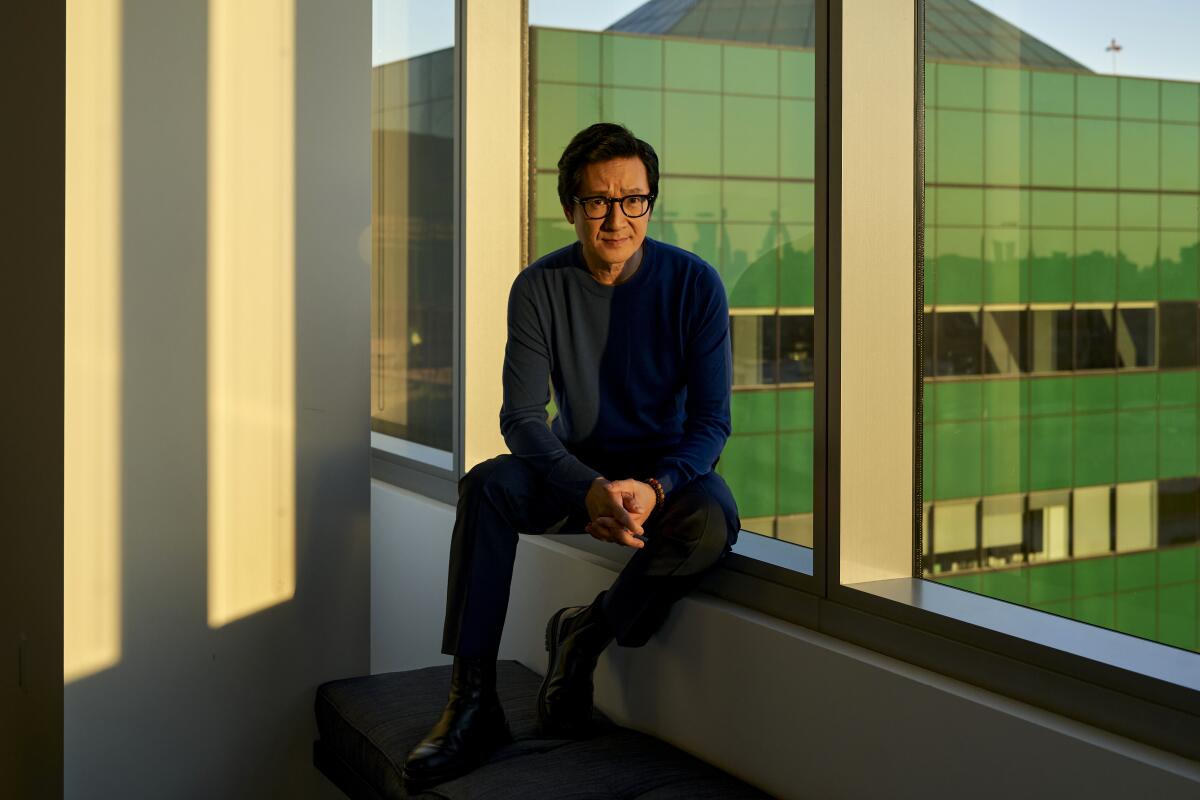
<svg viewBox="0 0 1200 800">
<path fill-rule="evenodd" d="M 450 700 L 433 729 L 404 762 L 404 786 L 421 792 L 484 763 L 512 740 L 496 694 L 496 658 L 455 656 Z"/>
</svg>

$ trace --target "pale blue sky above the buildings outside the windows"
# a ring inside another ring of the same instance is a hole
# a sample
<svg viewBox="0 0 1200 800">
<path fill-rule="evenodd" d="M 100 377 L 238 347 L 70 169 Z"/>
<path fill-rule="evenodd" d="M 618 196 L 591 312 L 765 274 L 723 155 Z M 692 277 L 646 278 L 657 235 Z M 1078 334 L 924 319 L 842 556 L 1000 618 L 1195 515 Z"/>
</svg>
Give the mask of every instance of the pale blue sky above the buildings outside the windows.
<svg viewBox="0 0 1200 800">
<path fill-rule="evenodd" d="M 529 24 L 602 30 L 646 0 L 529 0 Z M 1200 82 L 1200 0 L 974 0 L 1096 72 Z M 372 64 L 449 47 L 454 0 L 372 0 Z"/>
</svg>

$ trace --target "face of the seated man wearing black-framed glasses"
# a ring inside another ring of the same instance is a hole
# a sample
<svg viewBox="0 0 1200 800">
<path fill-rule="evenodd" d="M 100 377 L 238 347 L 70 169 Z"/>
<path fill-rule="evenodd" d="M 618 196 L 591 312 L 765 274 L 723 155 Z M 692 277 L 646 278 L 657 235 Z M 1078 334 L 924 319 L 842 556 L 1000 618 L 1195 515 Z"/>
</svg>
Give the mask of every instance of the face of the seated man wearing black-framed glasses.
<svg viewBox="0 0 1200 800">
<path fill-rule="evenodd" d="M 650 182 L 646 164 L 641 158 L 613 158 L 588 164 L 583 169 L 576 197 L 625 197 L 649 194 Z M 650 213 L 626 217 L 619 203 L 608 206 L 602 219 L 589 219 L 578 204 L 564 207 L 566 221 L 575 224 L 575 235 L 583 245 L 583 254 L 589 263 L 624 264 L 646 239 L 646 227 Z"/>
</svg>

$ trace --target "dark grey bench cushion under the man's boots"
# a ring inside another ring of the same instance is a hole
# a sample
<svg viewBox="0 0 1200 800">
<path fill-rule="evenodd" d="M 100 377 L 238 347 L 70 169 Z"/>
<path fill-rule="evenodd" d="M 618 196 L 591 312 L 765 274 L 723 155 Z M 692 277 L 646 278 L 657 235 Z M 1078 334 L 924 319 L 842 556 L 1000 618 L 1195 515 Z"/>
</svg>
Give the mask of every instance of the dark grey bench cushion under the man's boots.
<svg viewBox="0 0 1200 800">
<path fill-rule="evenodd" d="M 317 764 L 355 800 L 407 798 L 401 769 L 442 714 L 450 667 L 349 678 L 317 690 Z M 515 661 L 497 666 L 497 688 L 515 741 L 474 772 L 421 798 L 726 800 L 766 798 L 653 736 L 596 715 L 598 733 L 545 739 L 534 704 L 541 678 Z"/>
</svg>

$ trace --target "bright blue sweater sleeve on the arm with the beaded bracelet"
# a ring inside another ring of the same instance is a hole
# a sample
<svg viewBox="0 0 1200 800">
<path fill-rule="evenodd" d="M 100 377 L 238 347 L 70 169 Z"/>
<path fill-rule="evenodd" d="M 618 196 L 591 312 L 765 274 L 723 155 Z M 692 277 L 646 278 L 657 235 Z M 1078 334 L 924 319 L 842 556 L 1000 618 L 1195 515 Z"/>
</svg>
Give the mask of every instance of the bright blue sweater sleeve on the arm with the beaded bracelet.
<svg viewBox="0 0 1200 800">
<path fill-rule="evenodd" d="M 730 393 L 733 389 L 733 355 L 730 343 L 730 307 L 716 271 L 708 267 L 698 283 L 694 315 L 684 348 L 683 438 L 655 469 L 662 491 L 686 485 L 706 475 L 730 438 Z"/>
</svg>

